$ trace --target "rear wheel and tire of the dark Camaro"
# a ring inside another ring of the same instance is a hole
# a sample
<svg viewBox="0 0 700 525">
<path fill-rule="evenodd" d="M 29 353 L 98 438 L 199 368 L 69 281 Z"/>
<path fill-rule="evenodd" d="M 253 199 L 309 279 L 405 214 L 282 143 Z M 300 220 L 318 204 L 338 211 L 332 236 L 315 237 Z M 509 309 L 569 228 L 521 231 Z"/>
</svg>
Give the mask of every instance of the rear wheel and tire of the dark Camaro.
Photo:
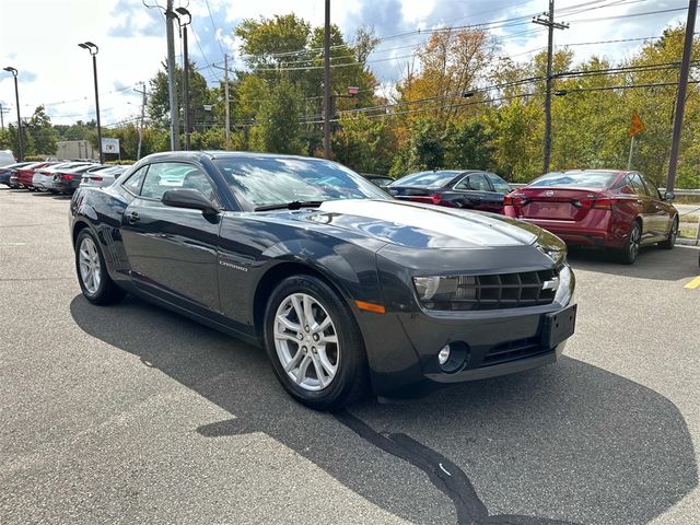
<svg viewBox="0 0 700 525">
<path fill-rule="evenodd" d="M 126 295 L 109 277 L 100 243 L 86 228 L 75 242 L 75 271 L 83 295 L 93 304 L 118 303 Z"/>
</svg>

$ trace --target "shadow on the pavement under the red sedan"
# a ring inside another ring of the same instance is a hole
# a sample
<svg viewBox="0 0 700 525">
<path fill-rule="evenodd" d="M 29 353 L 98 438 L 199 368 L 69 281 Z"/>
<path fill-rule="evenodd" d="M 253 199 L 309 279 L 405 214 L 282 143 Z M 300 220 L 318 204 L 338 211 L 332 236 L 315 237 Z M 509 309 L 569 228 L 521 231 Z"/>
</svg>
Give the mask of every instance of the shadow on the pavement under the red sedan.
<svg viewBox="0 0 700 525">
<path fill-rule="evenodd" d="M 633 265 L 622 265 L 616 260 L 614 252 L 599 249 L 573 249 L 569 252 L 569 262 L 574 270 L 597 271 L 612 276 L 678 281 L 697 276 L 697 248 L 676 245 L 674 249 L 644 246 Z"/>
</svg>

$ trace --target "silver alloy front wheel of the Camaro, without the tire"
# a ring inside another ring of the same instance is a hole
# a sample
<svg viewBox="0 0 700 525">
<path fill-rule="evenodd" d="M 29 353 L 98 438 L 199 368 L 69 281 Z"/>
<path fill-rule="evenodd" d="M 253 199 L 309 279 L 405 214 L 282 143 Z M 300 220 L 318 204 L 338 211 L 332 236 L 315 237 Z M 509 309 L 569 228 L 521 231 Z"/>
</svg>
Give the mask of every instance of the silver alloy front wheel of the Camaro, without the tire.
<svg viewBox="0 0 700 525">
<path fill-rule="evenodd" d="M 282 369 L 300 387 L 323 390 L 340 363 L 338 332 L 328 311 L 312 295 L 287 296 L 275 314 L 275 349 Z"/>
</svg>

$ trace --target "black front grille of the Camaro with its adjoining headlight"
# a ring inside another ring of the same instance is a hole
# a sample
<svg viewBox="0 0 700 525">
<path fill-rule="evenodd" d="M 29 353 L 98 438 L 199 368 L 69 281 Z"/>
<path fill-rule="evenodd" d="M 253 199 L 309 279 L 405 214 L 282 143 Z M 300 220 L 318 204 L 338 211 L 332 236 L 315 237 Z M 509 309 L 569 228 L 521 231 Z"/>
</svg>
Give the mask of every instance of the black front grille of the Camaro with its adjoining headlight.
<svg viewBox="0 0 700 525">
<path fill-rule="evenodd" d="M 556 290 L 542 288 L 558 279 L 555 269 L 497 273 L 490 276 L 459 276 L 457 290 L 450 301 L 434 302 L 431 310 L 499 310 L 550 304 Z"/>
</svg>

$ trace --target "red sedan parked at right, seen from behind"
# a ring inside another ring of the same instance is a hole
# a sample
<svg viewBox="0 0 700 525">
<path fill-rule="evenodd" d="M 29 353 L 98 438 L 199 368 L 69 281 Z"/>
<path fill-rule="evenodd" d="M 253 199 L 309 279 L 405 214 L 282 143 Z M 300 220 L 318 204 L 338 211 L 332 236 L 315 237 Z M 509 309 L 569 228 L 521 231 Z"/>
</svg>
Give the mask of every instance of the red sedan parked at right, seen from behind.
<svg viewBox="0 0 700 525">
<path fill-rule="evenodd" d="M 622 262 L 632 264 L 642 245 L 674 247 L 678 211 L 669 203 L 673 198 L 662 197 L 638 172 L 571 170 L 512 191 L 503 208 L 568 244 L 617 249 Z"/>
</svg>

